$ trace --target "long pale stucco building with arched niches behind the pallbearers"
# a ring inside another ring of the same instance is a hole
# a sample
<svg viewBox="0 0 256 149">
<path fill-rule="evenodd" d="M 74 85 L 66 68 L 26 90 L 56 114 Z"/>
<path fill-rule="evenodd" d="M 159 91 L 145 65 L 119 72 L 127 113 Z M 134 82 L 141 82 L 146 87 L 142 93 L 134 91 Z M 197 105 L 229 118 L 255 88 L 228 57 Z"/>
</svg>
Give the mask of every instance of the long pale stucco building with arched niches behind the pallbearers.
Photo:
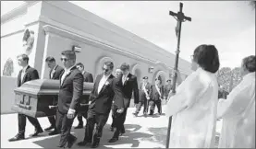
<svg viewBox="0 0 256 149">
<path fill-rule="evenodd" d="M 22 37 L 25 28 L 35 32 L 29 64 L 38 70 L 41 78 L 47 78 L 49 74 L 45 58 L 54 56 L 56 63 L 62 65 L 60 52 L 70 50 L 72 45 L 81 47 L 77 62 L 84 63 L 94 77 L 101 73 L 106 60 L 112 60 L 115 68 L 121 63 L 129 63 L 130 71 L 140 75 L 139 83 L 145 75 L 152 83 L 158 74 L 168 78 L 170 67 L 174 65 L 174 54 L 69 2 L 31 2 L 20 8 L 16 16 L 6 18 L 8 16 L 5 16 L 4 23 L 1 22 L 1 113 L 11 112 L 13 89 L 20 70 L 16 57 L 24 52 Z M 13 77 L 2 76 L 8 58 L 14 62 Z M 189 74 L 188 65 L 180 59 L 181 73 Z M 152 73 L 149 73 L 150 67 L 154 68 Z"/>
</svg>

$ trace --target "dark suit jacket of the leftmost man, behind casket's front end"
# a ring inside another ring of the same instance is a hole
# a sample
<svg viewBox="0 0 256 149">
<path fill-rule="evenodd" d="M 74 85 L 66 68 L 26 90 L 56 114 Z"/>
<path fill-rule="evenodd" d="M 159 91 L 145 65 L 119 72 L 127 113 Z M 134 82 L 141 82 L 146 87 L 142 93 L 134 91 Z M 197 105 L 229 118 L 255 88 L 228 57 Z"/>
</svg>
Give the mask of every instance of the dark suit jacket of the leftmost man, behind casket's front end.
<svg viewBox="0 0 256 149">
<path fill-rule="evenodd" d="M 30 65 L 26 69 L 26 73 L 23 76 L 22 82 L 21 82 L 21 73 L 22 73 L 22 69 L 18 73 L 18 79 L 17 79 L 17 86 L 18 87 L 21 86 L 22 84 L 24 84 L 27 81 L 39 79 L 39 75 L 38 75 L 37 70 L 30 67 Z"/>
</svg>

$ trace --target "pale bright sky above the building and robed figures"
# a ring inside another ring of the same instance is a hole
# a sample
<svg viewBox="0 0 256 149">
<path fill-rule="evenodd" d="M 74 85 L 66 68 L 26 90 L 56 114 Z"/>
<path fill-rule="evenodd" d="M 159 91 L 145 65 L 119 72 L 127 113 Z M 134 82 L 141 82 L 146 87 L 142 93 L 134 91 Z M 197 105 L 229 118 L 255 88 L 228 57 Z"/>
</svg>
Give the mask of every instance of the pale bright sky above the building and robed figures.
<svg viewBox="0 0 256 149">
<path fill-rule="evenodd" d="M 175 53 L 176 19 L 169 11 L 179 10 L 179 1 L 69 1 L 91 13 Z M 1 16 L 21 5 L 21 1 L 1 1 Z M 185 16 L 192 21 L 182 24 L 179 56 L 190 62 L 195 48 L 213 44 L 221 67 L 238 67 L 241 60 L 255 55 L 255 9 L 248 1 L 182 1 Z"/>
</svg>

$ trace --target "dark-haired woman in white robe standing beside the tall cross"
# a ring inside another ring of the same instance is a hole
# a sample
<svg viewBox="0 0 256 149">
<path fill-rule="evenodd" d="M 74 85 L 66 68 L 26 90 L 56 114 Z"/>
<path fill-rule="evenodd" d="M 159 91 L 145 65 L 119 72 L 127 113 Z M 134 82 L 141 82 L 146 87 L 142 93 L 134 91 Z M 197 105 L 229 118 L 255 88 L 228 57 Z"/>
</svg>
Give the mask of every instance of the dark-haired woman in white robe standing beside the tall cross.
<svg viewBox="0 0 256 149">
<path fill-rule="evenodd" d="M 213 45 L 200 45 L 191 58 L 195 72 L 177 87 L 177 93 L 169 97 L 166 105 L 166 116 L 172 116 L 170 148 L 214 147 L 218 51 Z"/>
</svg>

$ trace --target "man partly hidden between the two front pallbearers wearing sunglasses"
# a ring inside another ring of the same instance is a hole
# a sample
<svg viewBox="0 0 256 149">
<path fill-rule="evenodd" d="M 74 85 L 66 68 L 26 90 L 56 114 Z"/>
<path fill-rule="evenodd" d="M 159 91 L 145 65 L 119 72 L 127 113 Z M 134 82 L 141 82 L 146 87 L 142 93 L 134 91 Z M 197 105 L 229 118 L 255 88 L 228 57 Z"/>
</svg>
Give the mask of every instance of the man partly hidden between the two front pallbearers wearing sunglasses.
<svg viewBox="0 0 256 149">
<path fill-rule="evenodd" d="M 84 70 L 84 65 L 82 63 L 77 63 L 77 68 L 79 69 L 79 71 L 83 75 L 83 82 L 93 83 L 93 77 L 92 77 L 91 73 L 88 73 Z M 83 128 L 82 117 L 84 117 L 84 119 L 86 119 L 87 118 L 87 113 L 78 113 L 79 125 L 77 127 L 75 127 L 75 129 Z"/>
</svg>

